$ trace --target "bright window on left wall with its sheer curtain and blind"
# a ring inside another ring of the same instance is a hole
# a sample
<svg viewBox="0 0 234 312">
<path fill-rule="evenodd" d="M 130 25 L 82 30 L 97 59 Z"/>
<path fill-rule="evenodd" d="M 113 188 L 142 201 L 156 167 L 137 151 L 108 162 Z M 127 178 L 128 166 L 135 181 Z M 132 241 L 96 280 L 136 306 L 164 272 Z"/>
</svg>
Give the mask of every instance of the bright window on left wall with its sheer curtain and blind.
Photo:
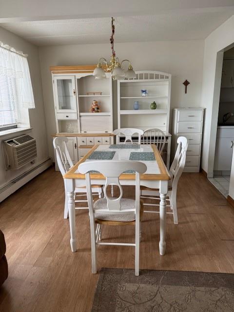
<svg viewBox="0 0 234 312">
<path fill-rule="evenodd" d="M 19 112 L 30 108 L 35 103 L 27 55 L 0 42 L 0 131 L 20 127 Z"/>
</svg>

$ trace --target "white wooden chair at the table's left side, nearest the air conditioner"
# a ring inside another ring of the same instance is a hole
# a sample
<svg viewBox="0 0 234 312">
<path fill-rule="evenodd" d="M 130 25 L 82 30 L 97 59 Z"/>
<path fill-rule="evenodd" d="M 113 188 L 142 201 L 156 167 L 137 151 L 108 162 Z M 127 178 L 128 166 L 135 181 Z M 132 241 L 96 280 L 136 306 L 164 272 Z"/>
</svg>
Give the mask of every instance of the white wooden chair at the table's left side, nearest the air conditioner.
<svg viewBox="0 0 234 312">
<path fill-rule="evenodd" d="M 67 142 L 68 139 L 67 137 L 55 137 L 53 140 L 53 145 L 56 151 L 56 158 L 57 158 L 57 163 L 59 166 L 59 171 L 61 175 L 65 175 L 67 171 L 74 165 L 68 148 L 67 148 Z M 66 190 L 66 180 L 64 179 L 64 189 Z M 92 186 L 92 192 L 94 194 L 98 194 L 99 198 L 102 196 L 102 186 L 101 185 L 93 185 Z M 75 198 L 84 196 L 86 195 L 86 188 L 85 185 L 80 188 L 76 188 L 75 190 Z M 75 202 L 87 202 L 87 199 L 81 200 L 81 199 L 76 199 Z M 88 209 L 88 207 L 76 207 L 76 209 Z M 65 192 L 65 204 L 64 204 L 64 219 L 68 218 L 68 199 L 67 199 L 67 194 Z"/>
</svg>

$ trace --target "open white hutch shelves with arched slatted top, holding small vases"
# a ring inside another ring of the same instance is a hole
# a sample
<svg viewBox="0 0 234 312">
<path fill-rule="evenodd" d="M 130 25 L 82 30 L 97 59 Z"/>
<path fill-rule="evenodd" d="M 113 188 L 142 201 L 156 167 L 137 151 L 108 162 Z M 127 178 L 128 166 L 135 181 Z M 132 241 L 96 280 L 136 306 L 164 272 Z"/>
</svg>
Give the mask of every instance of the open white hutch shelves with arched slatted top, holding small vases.
<svg viewBox="0 0 234 312">
<path fill-rule="evenodd" d="M 159 128 L 169 132 L 171 75 L 158 71 L 138 71 L 135 79 L 117 81 L 118 128 Z M 141 90 L 148 95 L 141 97 Z M 134 102 L 139 109 L 134 110 Z M 155 101 L 157 108 L 150 109 Z"/>
</svg>

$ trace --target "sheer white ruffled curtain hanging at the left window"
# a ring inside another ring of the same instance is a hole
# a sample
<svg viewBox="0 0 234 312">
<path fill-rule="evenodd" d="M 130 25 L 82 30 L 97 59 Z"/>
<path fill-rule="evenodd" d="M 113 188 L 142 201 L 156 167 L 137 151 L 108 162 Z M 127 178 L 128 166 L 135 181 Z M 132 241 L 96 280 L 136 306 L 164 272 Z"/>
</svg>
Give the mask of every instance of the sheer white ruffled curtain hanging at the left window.
<svg viewBox="0 0 234 312">
<path fill-rule="evenodd" d="M 35 108 L 27 55 L 0 41 L 0 75 L 15 78 L 16 104 L 19 108 Z M 3 102 L 0 91 L 0 106 Z"/>
</svg>

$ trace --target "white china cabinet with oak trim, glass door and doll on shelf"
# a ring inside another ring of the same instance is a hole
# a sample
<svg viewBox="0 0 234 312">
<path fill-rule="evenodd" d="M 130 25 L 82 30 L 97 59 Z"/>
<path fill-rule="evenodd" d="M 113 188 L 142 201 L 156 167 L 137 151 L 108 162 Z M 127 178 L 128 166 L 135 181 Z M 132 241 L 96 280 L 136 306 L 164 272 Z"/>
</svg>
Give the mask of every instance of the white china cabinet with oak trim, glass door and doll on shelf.
<svg viewBox="0 0 234 312">
<path fill-rule="evenodd" d="M 77 162 L 95 144 L 112 144 L 112 79 L 95 79 L 95 66 L 51 66 L 56 131 L 69 139 L 68 149 Z M 99 112 L 91 113 L 92 102 Z"/>
</svg>

